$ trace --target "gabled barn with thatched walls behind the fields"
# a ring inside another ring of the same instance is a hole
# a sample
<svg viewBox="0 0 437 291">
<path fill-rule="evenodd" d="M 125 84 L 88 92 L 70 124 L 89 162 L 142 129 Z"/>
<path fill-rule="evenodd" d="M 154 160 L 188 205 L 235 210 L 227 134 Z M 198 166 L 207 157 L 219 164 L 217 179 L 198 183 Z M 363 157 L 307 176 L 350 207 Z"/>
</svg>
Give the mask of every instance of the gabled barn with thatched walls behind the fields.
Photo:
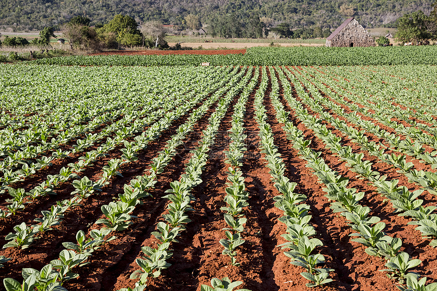
<svg viewBox="0 0 437 291">
<path fill-rule="evenodd" d="M 327 47 L 374 47 L 375 42 L 355 18 L 347 19 L 326 39 Z"/>
</svg>

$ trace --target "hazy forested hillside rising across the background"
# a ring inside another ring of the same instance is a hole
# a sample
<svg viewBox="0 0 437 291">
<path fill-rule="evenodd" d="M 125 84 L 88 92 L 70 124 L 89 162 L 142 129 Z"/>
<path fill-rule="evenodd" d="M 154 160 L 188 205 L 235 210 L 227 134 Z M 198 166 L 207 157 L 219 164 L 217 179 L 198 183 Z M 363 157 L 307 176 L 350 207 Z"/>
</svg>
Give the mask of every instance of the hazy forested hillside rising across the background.
<svg viewBox="0 0 437 291">
<path fill-rule="evenodd" d="M 267 27 L 288 22 L 293 28 L 319 25 L 333 28 L 355 16 L 365 27 L 390 26 L 404 13 L 431 11 L 430 0 L 2 0 L 0 28 L 41 29 L 69 21 L 77 15 L 91 24 L 107 22 L 116 14 L 134 17 L 141 23 L 160 20 L 184 24 L 184 17 L 198 15 L 202 24 L 214 24 L 232 14 L 247 23 L 260 17 Z"/>
</svg>

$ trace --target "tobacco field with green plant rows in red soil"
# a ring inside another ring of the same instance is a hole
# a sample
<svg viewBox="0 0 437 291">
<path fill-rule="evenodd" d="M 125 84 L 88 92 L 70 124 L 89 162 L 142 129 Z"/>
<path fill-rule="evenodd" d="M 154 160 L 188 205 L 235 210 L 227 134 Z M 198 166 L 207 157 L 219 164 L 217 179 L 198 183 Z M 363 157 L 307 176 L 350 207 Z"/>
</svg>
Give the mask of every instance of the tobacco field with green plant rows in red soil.
<svg viewBox="0 0 437 291">
<path fill-rule="evenodd" d="M 0 64 L 0 290 L 437 289 L 435 66 L 61 64 Z"/>
</svg>

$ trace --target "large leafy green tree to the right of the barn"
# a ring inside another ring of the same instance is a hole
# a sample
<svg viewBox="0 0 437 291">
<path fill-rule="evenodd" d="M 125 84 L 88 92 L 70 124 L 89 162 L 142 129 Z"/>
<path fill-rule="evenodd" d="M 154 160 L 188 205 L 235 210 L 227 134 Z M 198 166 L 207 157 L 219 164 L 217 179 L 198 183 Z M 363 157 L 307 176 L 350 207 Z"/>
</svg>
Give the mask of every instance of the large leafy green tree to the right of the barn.
<svg viewBox="0 0 437 291">
<path fill-rule="evenodd" d="M 420 10 L 410 14 L 404 14 L 402 17 L 399 17 L 396 22 L 396 38 L 403 43 L 423 42 L 432 37 L 428 29 L 431 19 Z"/>
</svg>

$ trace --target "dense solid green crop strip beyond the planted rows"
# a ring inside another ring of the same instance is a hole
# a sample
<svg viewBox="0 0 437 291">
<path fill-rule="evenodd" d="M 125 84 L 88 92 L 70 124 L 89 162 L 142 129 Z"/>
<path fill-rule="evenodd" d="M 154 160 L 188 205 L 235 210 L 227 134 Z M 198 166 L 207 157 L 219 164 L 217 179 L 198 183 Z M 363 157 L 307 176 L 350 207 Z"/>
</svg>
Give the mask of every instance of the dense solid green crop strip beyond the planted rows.
<svg viewBox="0 0 437 291">
<path fill-rule="evenodd" d="M 249 48 L 245 54 L 68 56 L 32 61 L 64 66 L 378 66 L 437 64 L 437 46 Z"/>
</svg>

